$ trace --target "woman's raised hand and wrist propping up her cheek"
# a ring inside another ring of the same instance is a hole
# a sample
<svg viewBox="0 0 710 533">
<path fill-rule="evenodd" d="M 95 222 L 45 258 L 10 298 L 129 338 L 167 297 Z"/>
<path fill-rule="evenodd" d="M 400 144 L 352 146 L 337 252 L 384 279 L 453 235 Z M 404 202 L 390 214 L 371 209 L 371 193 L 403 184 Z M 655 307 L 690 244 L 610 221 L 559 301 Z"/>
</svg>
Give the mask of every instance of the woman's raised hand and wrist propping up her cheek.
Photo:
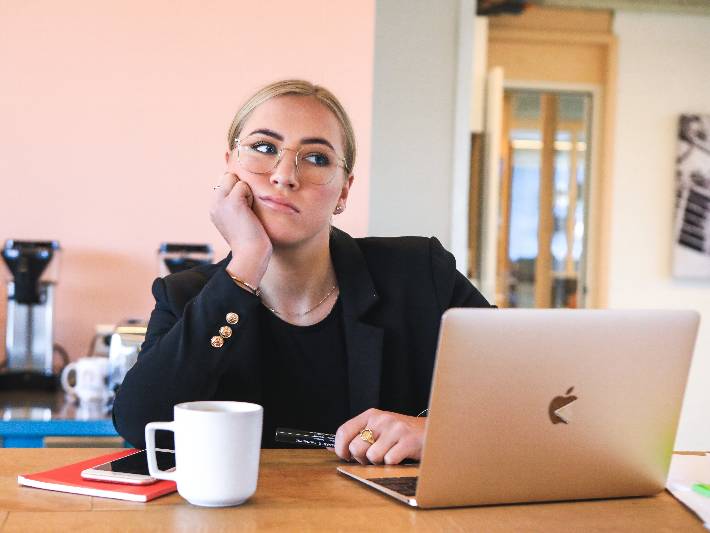
<svg viewBox="0 0 710 533">
<path fill-rule="evenodd" d="M 254 194 L 236 174 L 225 172 L 215 188 L 210 218 L 232 250 L 227 272 L 258 287 L 273 245 L 252 210 Z"/>
</svg>

